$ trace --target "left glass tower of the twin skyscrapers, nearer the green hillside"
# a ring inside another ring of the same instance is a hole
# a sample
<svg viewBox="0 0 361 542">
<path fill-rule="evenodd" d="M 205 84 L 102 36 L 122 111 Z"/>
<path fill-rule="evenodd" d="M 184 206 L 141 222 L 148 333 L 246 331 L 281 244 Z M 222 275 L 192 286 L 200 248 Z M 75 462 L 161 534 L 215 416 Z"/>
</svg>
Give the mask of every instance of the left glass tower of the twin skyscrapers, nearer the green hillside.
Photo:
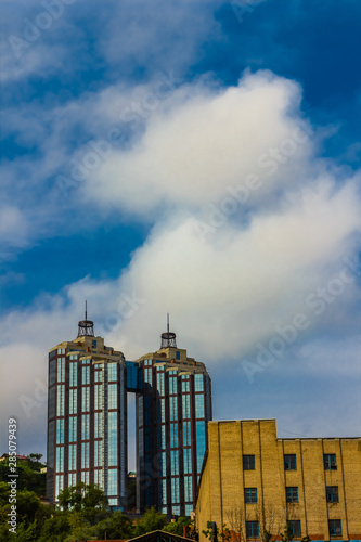
<svg viewBox="0 0 361 542">
<path fill-rule="evenodd" d="M 126 506 L 127 391 L 120 351 L 79 322 L 75 340 L 49 353 L 47 495 L 98 483 L 114 507 Z"/>
</svg>

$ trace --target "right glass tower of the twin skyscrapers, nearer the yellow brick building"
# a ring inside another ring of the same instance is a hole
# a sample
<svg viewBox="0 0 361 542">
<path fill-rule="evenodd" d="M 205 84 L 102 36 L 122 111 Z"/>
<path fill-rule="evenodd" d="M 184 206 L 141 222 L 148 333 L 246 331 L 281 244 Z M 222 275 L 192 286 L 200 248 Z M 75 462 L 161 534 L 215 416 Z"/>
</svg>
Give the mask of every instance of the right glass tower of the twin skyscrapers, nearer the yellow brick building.
<svg viewBox="0 0 361 542">
<path fill-rule="evenodd" d="M 138 507 L 190 516 L 196 496 L 207 424 L 211 420 L 210 377 L 204 363 L 177 348 L 164 333 L 160 349 L 137 360 Z"/>
</svg>

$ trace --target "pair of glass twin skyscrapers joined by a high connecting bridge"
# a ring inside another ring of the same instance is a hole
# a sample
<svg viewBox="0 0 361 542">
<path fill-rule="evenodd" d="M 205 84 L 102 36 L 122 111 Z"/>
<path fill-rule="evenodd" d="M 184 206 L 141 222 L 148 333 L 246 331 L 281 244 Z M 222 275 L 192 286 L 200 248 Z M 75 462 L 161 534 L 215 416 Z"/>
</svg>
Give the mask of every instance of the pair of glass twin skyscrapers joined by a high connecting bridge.
<svg viewBox="0 0 361 542">
<path fill-rule="evenodd" d="M 190 516 L 207 424 L 210 377 L 204 363 L 162 334 L 160 349 L 137 361 L 95 337 L 93 322 L 49 352 L 47 496 L 79 481 L 98 483 L 116 509 L 127 507 L 127 393 L 136 393 L 137 507 Z"/>
</svg>

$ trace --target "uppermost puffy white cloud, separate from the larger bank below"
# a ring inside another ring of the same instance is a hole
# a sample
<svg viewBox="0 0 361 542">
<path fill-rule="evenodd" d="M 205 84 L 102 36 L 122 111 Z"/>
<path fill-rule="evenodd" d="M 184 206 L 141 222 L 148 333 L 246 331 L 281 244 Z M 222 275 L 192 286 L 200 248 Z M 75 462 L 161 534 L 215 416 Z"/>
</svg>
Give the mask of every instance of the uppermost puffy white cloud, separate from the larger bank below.
<svg viewBox="0 0 361 542">
<path fill-rule="evenodd" d="M 299 183 L 300 170 L 307 183 L 311 129 L 299 103 L 298 85 L 269 72 L 228 89 L 207 80 L 176 90 L 143 137 L 94 171 L 85 195 L 144 217 L 165 204 L 205 207 L 252 173 L 262 182 L 257 199 Z"/>
</svg>

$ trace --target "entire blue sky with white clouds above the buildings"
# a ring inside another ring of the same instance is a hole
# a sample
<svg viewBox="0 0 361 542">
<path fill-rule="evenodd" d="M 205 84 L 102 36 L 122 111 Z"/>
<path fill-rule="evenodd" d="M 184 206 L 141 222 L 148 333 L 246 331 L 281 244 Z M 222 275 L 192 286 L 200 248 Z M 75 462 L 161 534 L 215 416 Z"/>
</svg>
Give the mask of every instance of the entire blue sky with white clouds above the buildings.
<svg viewBox="0 0 361 542">
<path fill-rule="evenodd" d="M 128 359 L 169 311 L 215 418 L 359 435 L 359 2 L 2 12 L 1 412 L 22 453 L 44 453 L 47 351 L 86 298 Z"/>
</svg>

